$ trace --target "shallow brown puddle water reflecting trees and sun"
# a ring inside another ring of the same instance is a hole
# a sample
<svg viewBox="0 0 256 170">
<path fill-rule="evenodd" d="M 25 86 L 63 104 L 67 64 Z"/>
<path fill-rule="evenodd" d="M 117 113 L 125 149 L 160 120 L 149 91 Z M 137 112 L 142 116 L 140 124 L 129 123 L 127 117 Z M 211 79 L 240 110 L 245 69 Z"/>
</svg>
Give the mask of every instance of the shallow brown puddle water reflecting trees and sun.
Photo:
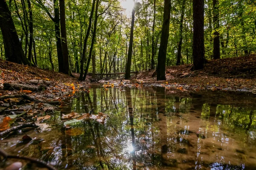
<svg viewBox="0 0 256 170">
<path fill-rule="evenodd" d="M 58 169 L 256 169 L 255 96 L 160 87 L 89 90 L 48 120 L 49 131 L 28 132 L 44 142 L 21 148 L 15 145 L 20 136 L 12 136 L 0 145 Z M 104 124 L 63 127 L 62 114 L 92 108 L 109 115 Z"/>
</svg>

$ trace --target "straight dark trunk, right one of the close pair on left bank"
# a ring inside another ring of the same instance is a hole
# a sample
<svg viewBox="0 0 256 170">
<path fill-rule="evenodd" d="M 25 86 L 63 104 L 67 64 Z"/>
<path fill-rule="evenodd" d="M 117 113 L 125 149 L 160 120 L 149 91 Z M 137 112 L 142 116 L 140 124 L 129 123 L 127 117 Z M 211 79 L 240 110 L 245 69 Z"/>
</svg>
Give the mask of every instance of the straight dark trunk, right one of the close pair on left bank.
<svg viewBox="0 0 256 170">
<path fill-rule="evenodd" d="M 60 24 L 61 24 L 61 45 L 63 57 L 63 71 L 64 74 L 72 75 L 69 68 L 69 55 L 67 48 L 67 31 L 66 31 L 66 18 L 65 18 L 65 0 L 60 0 Z"/>
</svg>

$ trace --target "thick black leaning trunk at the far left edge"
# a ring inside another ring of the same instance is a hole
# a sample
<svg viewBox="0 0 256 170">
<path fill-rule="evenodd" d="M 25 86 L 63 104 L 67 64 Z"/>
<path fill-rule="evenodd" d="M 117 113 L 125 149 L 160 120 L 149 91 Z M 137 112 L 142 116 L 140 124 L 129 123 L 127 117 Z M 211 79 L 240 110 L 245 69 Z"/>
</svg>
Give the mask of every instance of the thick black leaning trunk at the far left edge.
<svg viewBox="0 0 256 170">
<path fill-rule="evenodd" d="M 12 20 L 11 11 L 9 10 L 5 0 L 0 0 L 0 28 L 3 35 L 6 59 L 19 64 L 31 65 L 23 52 Z"/>
</svg>

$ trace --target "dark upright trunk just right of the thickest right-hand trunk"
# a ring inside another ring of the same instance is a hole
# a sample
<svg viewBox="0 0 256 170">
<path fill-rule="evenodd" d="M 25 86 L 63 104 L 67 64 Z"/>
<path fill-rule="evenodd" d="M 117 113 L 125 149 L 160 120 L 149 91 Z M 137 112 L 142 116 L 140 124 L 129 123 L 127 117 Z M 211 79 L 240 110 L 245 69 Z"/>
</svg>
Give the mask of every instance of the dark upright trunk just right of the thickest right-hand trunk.
<svg viewBox="0 0 256 170">
<path fill-rule="evenodd" d="M 213 37 L 213 59 L 220 59 L 220 20 L 219 20 L 219 1 L 213 0 L 213 29 L 214 29 L 214 37 Z"/>
</svg>

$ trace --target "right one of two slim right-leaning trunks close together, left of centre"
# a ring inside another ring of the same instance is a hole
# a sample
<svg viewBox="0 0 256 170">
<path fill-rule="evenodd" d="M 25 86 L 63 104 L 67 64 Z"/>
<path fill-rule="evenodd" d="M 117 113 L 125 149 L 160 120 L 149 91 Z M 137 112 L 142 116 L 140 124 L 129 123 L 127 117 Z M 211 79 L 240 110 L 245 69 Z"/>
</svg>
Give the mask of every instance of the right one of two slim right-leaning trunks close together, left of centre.
<svg viewBox="0 0 256 170">
<path fill-rule="evenodd" d="M 89 70 L 89 65 L 90 65 L 90 59 L 92 57 L 92 52 L 93 52 L 93 45 L 94 45 L 94 41 L 95 41 L 95 36 L 96 36 L 96 29 L 97 29 L 97 20 L 98 20 L 98 7 L 99 7 L 99 0 L 97 0 L 96 2 L 96 11 L 95 11 L 95 20 L 94 20 L 94 25 L 93 25 L 93 37 L 92 37 L 92 42 L 91 42 L 91 46 L 90 46 L 90 52 L 89 52 L 89 56 L 88 56 L 88 61 L 87 61 L 87 65 L 84 71 L 84 77 L 83 80 L 85 80 L 86 75 L 88 73 Z"/>
</svg>

